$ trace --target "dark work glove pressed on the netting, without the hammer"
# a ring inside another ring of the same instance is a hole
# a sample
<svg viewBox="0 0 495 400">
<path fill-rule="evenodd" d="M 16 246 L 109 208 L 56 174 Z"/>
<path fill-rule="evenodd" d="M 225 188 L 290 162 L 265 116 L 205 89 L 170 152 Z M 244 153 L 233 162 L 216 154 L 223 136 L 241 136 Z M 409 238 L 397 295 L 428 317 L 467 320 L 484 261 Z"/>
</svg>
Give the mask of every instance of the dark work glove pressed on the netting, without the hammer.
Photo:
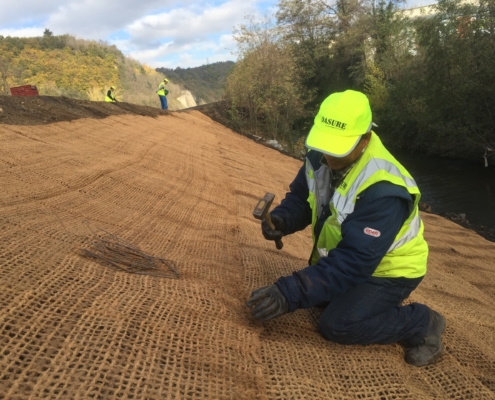
<svg viewBox="0 0 495 400">
<path fill-rule="evenodd" d="M 246 306 L 254 308 L 251 314 L 256 319 L 268 321 L 289 312 L 289 303 L 277 285 L 265 286 L 251 293 Z"/>
</svg>

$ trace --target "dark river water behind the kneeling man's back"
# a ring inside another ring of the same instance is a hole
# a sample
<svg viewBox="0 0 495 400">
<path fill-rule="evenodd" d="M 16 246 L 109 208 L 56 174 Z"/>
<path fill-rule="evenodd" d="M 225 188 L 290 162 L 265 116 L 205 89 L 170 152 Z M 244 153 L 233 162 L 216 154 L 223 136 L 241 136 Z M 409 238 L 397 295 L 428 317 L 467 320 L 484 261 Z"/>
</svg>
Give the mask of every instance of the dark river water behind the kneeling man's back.
<svg viewBox="0 0 495 400">
<path fill-rule="evenodd" d="M 495 166 L 447 158 L 391 153 L 411 173 L 421 191 L 421 202 L 434 214 L 466 214 L 476 225 L 495 228 Z M 492 156 L 489 160 L 494 164 Z"/>
</svg>

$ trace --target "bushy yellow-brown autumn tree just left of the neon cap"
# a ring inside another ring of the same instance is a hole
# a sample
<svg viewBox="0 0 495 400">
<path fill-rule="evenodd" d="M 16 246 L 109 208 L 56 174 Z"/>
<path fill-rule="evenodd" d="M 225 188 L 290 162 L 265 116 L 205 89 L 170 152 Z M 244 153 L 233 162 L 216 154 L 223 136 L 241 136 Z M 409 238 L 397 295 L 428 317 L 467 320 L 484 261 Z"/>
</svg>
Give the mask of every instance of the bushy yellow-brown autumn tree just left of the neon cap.
<svg viewBox="0 0 495 400">
<path fill-rule="evenodd" d="M 306 113 L 311 91 L 301 84 L 302 72 L 281 30 L 268 20 L 242 25 L 235 33 L 239 61 L 227 78 L 231 117 L 254 134 L 294 141 L 293 125 Z"/>
</svg>

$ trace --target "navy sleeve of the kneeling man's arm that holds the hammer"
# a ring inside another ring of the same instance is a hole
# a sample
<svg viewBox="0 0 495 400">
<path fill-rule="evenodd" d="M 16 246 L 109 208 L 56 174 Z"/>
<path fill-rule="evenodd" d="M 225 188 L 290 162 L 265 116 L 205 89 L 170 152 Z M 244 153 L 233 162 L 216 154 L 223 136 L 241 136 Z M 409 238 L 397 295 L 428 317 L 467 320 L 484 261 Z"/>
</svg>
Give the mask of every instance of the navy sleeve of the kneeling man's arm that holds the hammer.
<svg viewBox="0 0 495 400">
<path fill-rule="evenodd" d="M 285 221 L 284 235 L 301 231 L 311 224 L 311 207 L 308 203 L 309 189 L 306 181 L 305 164 L 299 169 L 294 181 L 289 185 L 289 192 L 280 205 L 271 214 L 278 215 Z"/>
</svg>

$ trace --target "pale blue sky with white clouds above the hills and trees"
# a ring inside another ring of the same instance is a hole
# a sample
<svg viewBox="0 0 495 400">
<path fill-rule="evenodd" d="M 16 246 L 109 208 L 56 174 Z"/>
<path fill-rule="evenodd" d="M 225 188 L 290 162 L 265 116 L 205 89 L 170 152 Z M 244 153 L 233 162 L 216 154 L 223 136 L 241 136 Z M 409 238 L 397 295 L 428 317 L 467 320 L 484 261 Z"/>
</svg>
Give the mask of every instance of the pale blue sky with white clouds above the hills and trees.
<svg viewBox="0 0 495 400">
<path fill-rule="evenodd" d="M 409 0 L 408 6 L 430 4 Z M 232 32 L 278 0 L 0 0 L 0 35 L 102 40 L 153 68 L 236 60 Z"/>
</svg>

